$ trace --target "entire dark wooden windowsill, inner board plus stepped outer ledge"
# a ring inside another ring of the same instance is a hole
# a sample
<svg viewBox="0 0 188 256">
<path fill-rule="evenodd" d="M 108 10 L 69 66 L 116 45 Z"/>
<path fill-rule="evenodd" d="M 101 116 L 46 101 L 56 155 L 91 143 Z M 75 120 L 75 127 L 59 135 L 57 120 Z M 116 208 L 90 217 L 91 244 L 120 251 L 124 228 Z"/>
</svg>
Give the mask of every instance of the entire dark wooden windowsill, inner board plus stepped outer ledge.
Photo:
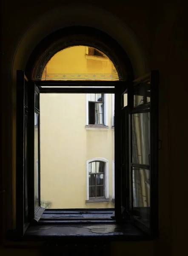
<svg viewBox="0 0 188 256">
<path fill-rule="evenodd" d="M 7 239 L 16 244 L 44 242 L 62 245 L 103 241 L 148 241 L 151 237 L 135 227 L 132 220 L 118 224 L 109 209 L 46 209 L 39 222 L 28 226 L 24 236 L 9 232 Z"/>
</svg>

